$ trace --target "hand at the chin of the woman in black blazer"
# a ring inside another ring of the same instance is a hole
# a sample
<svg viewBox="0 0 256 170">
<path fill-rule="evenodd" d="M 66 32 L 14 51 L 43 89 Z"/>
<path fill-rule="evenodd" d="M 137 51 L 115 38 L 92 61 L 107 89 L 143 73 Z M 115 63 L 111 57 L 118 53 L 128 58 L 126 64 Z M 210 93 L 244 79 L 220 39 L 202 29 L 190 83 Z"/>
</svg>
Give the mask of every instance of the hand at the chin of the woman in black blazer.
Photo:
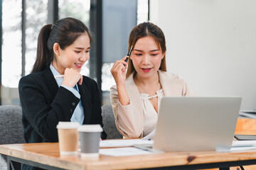
<svg viewBox="0 0 256 170">
<path fill-rule="evenodd" d="M 82 84 L 82 75 L 75 69 L 66 68 L 62 85 L 74 87 L 75 84 Z"/>
</svg>

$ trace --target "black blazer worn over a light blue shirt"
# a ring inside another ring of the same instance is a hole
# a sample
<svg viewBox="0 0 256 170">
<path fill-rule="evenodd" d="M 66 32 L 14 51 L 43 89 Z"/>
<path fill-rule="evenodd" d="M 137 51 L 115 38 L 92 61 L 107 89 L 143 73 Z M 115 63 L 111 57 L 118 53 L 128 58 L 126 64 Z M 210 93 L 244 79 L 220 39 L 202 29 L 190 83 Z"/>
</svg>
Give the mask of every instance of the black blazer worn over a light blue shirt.
<svg viewBox="0 0 256 170">
<path fill-rule="evenodd" d="M 78 89 L 85 114 L 83 124 L 100 124 L 103 127 L 96 82 L 83 76 Z M 50 67 L 22 77 L 18 91 L 26 142 L 58 142 L 58 122 L 70 121 L 80 99 L 62 86 L 58 87 Z M 101 137 L 106 139 L 107 134 L 103 131 Z"/>
</svg>

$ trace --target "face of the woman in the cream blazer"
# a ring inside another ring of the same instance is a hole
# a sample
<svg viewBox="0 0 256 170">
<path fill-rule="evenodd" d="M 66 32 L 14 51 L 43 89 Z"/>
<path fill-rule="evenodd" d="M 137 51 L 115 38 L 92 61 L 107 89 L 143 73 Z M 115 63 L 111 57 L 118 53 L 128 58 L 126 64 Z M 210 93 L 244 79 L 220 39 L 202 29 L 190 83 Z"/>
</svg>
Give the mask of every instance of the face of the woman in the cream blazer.
<svg viewBox="0 0 256 170">
<path fill-rule="evenodd" d="M 154 38 L 147 36 L 137 40 L 130 58 L 137 72 L 137 77 L 148 79 L 157 76 L 163 57 L 164 54 L 160 46 L 156 45 Z"/>
</svg>

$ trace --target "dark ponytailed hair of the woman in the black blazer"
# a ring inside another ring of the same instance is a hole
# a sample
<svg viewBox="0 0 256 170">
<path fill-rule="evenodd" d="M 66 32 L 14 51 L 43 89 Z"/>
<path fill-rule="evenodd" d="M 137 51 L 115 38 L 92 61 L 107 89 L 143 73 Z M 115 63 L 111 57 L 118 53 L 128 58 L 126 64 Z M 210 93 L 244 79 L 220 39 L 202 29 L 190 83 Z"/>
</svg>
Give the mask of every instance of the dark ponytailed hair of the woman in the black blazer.
<svg viewBox="0 0 256 170">
<path fill-rule="evenodd" d="M 87 33 L 92 43 L 92 34 L 82 21 L 75 18 L 63 18 L 55 24 L 47 24 L 41 28 L 38 35 L 38 46 L 36 52 L 36 62 L 33 64 L 33 72 L 39 72 L 54 60 L 53 45 L 57 42 L 62 50 L 72 45 L 75 40 Z"/>
</svg>

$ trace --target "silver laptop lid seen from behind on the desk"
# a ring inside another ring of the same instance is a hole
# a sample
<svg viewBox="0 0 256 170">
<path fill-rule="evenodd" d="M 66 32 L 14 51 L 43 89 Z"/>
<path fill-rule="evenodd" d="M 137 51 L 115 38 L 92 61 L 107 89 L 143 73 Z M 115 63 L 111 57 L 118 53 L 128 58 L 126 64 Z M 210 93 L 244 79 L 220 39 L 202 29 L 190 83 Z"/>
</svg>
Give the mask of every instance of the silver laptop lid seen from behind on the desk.
<svg viewBox="0 0 256 170">
<path fill-rule="evenodd" d="M 153 150 L 225 151 L 233 142 L 241 97 L 164 97 Z"/>
</svg>

